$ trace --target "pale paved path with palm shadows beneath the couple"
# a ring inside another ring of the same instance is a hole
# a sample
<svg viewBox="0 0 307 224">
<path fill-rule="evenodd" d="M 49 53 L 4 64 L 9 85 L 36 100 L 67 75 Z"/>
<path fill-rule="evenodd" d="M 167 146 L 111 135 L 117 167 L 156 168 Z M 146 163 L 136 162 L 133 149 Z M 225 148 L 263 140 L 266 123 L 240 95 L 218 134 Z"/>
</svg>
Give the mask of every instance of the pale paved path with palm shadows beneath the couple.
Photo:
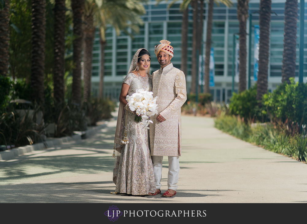
<svg viewBox="0 0 307 224">
<path fill-rule="evenodd" d="M 0 202 L 307 202 L 307 164 L 182 117 L 177 195 L 111 195 L 115 121 L 89 139 L 0 162 Z M 167 190 L 167 157 L 162 187 Z"/>
</svg>

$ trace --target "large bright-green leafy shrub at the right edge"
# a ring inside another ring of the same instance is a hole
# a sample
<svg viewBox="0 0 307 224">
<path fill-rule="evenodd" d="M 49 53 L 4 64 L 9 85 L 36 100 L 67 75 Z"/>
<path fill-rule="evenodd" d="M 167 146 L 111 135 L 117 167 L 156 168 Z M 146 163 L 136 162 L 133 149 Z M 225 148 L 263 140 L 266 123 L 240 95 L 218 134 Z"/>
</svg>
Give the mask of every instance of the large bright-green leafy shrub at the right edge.
<svg viewBox="0 0 307 224">
<path fill-rule="evenodd" d="M 272 93 L 263 96 L 263 104 L 274 123 L 286 123 L 290 133 L 295 133 L 294 126 L 300 132 L 302 125 L 307 125 L 307 85 L 295 83 L 281 84 Z M 293 129 L 293 130 L 292 130 Z"/>
</svg>

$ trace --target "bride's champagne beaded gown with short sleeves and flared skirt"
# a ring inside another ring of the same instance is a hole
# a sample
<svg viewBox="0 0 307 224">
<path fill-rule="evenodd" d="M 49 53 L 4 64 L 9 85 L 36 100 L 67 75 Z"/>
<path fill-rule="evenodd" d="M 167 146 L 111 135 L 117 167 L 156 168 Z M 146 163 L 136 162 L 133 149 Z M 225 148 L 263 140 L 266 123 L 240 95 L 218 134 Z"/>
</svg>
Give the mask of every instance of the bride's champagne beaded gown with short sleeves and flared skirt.
<svg viewBox="0 0 307 224">
<path fill-rule="evenodd" d="M 136 53 L 136 58 L 138 52 Z M 132 63 L 131 63 L 132 64 Z M 136 65 L 135 65 L 136 66 Z M 128 73 L 123 83 L 128 84 L 128 95 L 131 96 L 137 89 L 152 91 L 151 75 L 146 77 Z M 122 113 L 122 114 L 120 114 Z M 120 116 L 121 115 L 121 116 Z M 120 118 L 121 117 L 121 118 Z M 127 138 L 129 143 L 120 144 L 124 132 L 125 119 L 127 118 Z M 116 184 L 115 192 L 132 195 L 147 195 L 156 191 L 153 165 L 149 148 L 149 130 L 134 121 L 135 114 L 120 107 L 115 134 L 115 167 L 113 181 Z M 119 138 L 116 141 L 116 135 Z"/>
</svg>

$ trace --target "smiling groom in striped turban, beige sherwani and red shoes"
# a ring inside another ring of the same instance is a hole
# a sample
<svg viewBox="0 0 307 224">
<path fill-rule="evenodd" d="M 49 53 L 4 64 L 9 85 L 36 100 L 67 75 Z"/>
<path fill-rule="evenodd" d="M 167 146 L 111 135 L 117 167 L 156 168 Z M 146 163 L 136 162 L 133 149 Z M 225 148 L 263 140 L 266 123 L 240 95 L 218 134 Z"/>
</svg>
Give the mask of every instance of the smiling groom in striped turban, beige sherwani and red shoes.
<svg viewBox="0 0 307 224">
<path fill-rule="evenodd" d="M 150 124 L 150 152 L 157 191 L 161 193 L 163 156 L 168 156 L 168 190 L 164 197 L 176 195 L 179 178 L 179 156 L 181 156 L 181 106 L 187 99 L 185 74 L 171 63 L 173 47 L 167 40 L 155 46 L 155 54 L 161 68 L 152 75 L 153 97 L 158 96 L 158 114 Z"/>
</svg>

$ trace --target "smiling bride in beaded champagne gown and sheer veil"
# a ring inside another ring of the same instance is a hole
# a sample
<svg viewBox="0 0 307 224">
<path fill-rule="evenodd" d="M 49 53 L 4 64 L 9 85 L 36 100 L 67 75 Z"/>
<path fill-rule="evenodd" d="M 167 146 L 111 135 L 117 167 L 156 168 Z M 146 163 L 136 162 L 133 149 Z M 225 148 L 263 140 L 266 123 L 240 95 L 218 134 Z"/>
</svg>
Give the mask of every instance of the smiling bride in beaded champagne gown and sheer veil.
<svg viewBox="0 0 307 224">
<path fill-rule="evenodd" d="M 144 48 L 138 49 L 132 58 L 129 73 L 122 83 L 119 96 L 120 103 L 114 141 L 116 156 L 113 171 L 113 182 L 116 187 L 115 192 L 111 193 L 151 195 L 156 191 L 148 143 L 148 129 L 142 128 L 140 123 L 134 121 L 136 113 L 126 106 L 126 96 L 131 96 L 137 89 L 152 91 L 149 69 L 150 53 Z M 129 143 L 123 145 L 121 140 L 124 136 L 125 124 L 127 125 L 126 134 Z"/>
</svg>

